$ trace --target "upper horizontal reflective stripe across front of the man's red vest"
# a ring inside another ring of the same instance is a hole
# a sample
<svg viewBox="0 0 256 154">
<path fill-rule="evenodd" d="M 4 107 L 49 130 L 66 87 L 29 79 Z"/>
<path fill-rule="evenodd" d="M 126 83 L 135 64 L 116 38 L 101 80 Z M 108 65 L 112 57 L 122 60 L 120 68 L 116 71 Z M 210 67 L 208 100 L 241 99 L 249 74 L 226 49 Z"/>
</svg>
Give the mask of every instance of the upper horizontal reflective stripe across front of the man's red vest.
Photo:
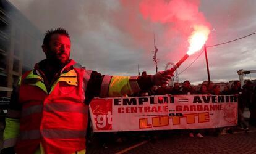
<svg viewBox="0 0 256 154">
<path fill-rule="evenodd" d="M 22 117 L 32 115 L 35 113 L 41 113 L 43 110 L 42 105 L 33 105 L 31 107 L 25 108 L 22 110 Z M 47 103 L 44 108 L 45 111 L 49 112 L 76 112 L 76 113 L 88 113 L 88 108 L 85 106 L 78 106 L 78 105 L 72 105 L 72 104 L 64 104 L 64 103 Z"/>
</svg>

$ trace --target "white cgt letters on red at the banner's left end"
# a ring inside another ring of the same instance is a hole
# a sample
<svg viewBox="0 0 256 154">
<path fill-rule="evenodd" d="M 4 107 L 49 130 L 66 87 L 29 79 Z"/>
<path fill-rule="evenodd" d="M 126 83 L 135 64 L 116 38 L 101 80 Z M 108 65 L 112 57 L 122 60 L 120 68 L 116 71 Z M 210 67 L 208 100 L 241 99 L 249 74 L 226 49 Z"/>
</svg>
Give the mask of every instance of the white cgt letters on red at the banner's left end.
<svg viewBox="0 0 256 154">
<path fill-rule="evenodd" d="M 93 115 L 94 120 L 96 121 L 96 127 L 101 130 L 110 130 L 112 128 L 112 114 L 108 111 L 106 115 Z M 110 128 L 110 129 L 109 129 Z"/>
</svg>

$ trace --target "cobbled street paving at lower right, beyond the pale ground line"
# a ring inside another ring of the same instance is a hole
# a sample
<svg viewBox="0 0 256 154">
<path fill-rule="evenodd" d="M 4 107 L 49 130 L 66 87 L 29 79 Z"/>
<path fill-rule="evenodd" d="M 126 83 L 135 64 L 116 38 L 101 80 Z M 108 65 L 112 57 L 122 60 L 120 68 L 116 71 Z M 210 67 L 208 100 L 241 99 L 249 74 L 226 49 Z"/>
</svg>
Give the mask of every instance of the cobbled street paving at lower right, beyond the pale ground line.
<svg viewBox="0 0 256 154">
<path fill-rule="evenodd" d="M 144 144 L 127 153 L 256 153 L 256 132 L 228 134 L 203 139 L 170 137 Z"/>
</svg>

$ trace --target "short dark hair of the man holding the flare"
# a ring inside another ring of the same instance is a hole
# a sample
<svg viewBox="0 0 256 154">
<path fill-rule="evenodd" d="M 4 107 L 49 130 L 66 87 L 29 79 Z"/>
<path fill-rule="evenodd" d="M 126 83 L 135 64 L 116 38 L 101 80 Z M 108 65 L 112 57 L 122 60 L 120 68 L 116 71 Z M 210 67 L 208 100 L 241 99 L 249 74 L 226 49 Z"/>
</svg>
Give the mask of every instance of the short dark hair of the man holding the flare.
<svg viewBox="0 0 256 154">
<path fill-rule="evenodd" d="M 45 38 L 43 38 L 43 44 L 45 46 L 49 46 L 49 41 L 53 34 L 61 34 L 61 35 L 64 35 L 64 36 L 67 36 L 68 38 L 70 38 L 69 33 L 64 28 L 59 27 L 54 30 L 51 29 L 51 30 L 46 31 Z"/>
</svg>

